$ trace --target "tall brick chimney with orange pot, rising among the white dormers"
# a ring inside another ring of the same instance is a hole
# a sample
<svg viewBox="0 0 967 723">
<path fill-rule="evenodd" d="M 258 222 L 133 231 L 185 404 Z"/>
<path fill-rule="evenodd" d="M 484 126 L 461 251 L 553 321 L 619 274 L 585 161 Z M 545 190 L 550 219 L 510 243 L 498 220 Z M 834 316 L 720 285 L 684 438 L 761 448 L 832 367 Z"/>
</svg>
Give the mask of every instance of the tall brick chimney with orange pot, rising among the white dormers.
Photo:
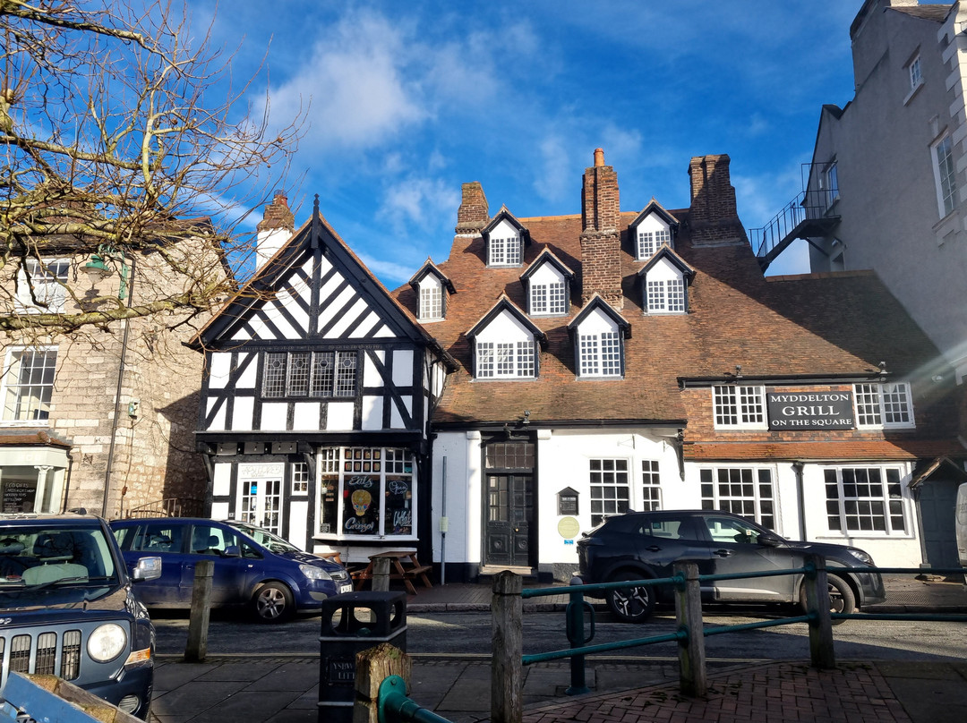
<svg viewBox="0 0 967 723">
<path fill-rule="evenodd" d="M 584 169 L 581 189 L 581 296 L 587 302 L 597 292 L 617 309 L 625 302 L 619 219 L 618 174 L 604 165 L 604 151 L 598 148 L 595 164 Z"/>
</svg>

